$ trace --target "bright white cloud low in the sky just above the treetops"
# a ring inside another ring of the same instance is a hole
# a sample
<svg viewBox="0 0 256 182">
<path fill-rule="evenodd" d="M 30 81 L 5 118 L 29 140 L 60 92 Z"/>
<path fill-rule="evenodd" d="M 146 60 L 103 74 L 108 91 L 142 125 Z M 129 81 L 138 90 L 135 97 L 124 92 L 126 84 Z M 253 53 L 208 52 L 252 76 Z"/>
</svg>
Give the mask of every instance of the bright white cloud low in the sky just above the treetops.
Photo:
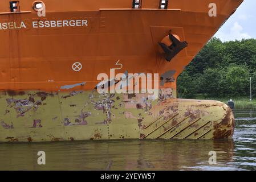
<svg viewBox="0 0 256 182">
<path fill-rule="evenodd" d="M 243 18 L 245 18 L 245 16 Z M 224 42 L 229 40 L 242 40 L 251 38 L 247 32 L 243 32 L 243 27 L 238 22 L 233 24 L 229 32 L 218 31 L 215 36 Z"/>
</svg>

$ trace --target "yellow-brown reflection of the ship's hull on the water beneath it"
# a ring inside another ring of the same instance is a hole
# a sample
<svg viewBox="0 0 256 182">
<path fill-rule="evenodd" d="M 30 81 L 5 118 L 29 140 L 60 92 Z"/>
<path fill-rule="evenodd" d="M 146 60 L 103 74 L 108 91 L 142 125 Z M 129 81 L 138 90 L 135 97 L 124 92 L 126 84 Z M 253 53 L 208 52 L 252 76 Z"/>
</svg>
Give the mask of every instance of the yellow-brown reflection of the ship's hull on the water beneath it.
<svg viewBox="0 0 256 182">
<path fill-rule="evenodd" d="M 36 163 L 40 150 L 47 154 L 44 167 Z M 209 151 L 217 152 L 220 163 L 232 162 L 233 150 L 233 140 L 3 143 L 0 169 L 178 170 L 208 166 Z"/>
</svg>

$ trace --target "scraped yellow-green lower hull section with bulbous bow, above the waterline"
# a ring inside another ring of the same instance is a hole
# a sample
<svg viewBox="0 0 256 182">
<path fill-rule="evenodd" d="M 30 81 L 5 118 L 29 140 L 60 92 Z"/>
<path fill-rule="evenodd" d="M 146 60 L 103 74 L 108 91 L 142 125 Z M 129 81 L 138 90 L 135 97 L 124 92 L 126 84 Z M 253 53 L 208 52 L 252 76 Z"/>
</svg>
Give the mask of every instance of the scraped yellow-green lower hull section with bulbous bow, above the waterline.
<svg viewBox="0 0 256 182">
<path fill-rule="evenodd" d="M 148 94 L 1 92 L 0 142 L 231 138 L 234 116 L 222 102 Z"/>
</svg>

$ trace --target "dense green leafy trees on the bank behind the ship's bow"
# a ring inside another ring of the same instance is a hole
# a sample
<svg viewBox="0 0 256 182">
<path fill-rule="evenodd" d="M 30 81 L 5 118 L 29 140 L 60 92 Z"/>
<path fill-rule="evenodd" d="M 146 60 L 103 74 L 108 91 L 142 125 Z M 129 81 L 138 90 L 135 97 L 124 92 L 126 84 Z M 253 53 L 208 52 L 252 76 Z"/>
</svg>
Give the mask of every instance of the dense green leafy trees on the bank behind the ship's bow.
<svg viewBox="0 0 256 182">
<path fill-rule="evenodd" d="M 256 96 L 256 39 L 212 38 L 177 78 L 179 98 Z"/>
</svg>

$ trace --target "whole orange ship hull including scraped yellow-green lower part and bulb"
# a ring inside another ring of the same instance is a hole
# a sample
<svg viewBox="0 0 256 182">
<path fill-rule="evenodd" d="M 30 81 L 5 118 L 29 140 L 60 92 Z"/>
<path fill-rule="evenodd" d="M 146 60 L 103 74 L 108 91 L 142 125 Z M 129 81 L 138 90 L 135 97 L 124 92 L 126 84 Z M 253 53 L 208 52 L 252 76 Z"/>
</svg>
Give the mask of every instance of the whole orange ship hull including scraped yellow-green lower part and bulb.
<svg viewBox="0 0 256 182">
<path fill-rule="evenodd" d="M 217 5 L 214 17 L 209 16 L 212 2 Z M 173 0 L 165 10 L 159 9 L 159 0 L 144 0 L 141 9 L 131 9 L 131 0 L 45 0 L 44 17 L 38 16 L 33 3 L 20 0 L 19 11 L 11 13 L 9 1 L 0 2 L 0 141 L 233 135 L 234 118 L 226 105 L 209 102 L 219 109 L 213 113 L 205 101 L 186 105 L 176 100 L 176 79 L 242 0 Z M 159 42 L 170 30 L 188 47 L 168 62 Z M 147 94 L 131 98 L 128 94 L 95 94 L 100 82 L 97 75 L 109 75 L 113 68 L 116 74 L 159 73 L 161 92 L 168 97 L 141 104 Z M 121 104 L 119 111 L 113 111 L 118 107 L 109 100 Z M 99 101 L 109 105 L 99 109 Z M 148 104 L 152 107 L 146 108 Z M 177 104 L 182 107 L 166 109 Z M 159 113 L 161 109 L 164 113 Z M 185 122 L 184 126 L 177 125 L 178 121 Z M 123 132 L 109 131 L 111 126 L 123 127 Z M 180 131 L 176 134 L 173 129 Z M 84 135 L 75 130 L 90 132 Z"/>
</svg>

